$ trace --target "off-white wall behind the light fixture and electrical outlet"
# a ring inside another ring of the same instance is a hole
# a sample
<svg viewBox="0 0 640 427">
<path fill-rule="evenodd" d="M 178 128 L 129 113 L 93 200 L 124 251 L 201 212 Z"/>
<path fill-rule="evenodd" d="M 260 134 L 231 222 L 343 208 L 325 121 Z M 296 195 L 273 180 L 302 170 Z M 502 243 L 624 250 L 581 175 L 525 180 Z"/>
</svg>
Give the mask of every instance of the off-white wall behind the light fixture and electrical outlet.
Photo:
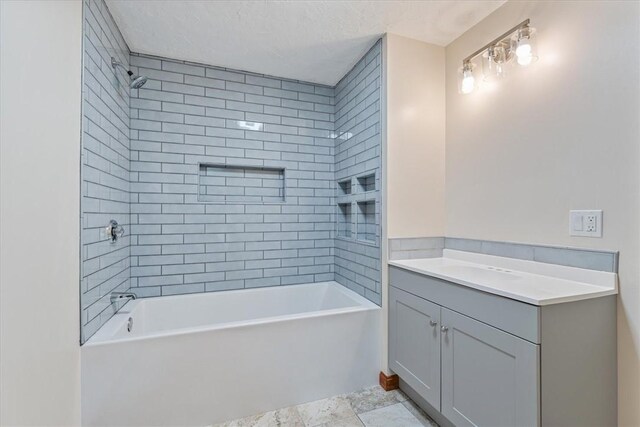
<svg viewBox="0 0 640 427">
<path fill-rule="evenodd" d="M 640 425 L 639 5 L 511 1 L 446 49 L 446 235 L 620 251 L 628 426 Z M 525 18 L 540 60 L 459 95 L 462 58 Z M 603 238 L 569 237 L 570 209 L 603 209 Z"/>
</svg>

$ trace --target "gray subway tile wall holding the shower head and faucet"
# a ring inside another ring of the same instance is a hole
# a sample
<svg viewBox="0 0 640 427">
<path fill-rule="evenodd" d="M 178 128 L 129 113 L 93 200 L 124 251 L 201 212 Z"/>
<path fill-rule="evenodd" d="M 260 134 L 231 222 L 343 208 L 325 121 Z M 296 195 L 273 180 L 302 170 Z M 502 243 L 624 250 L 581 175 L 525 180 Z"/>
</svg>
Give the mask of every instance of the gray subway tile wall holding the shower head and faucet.
<svg viewBox="0 0 640 427">
<path fill-rule="evenodd" d="M 130 287 L 130 237 L 111 243 L 105 228 L 115 219 L 128 232 L 129 48 L 103 1 L 83 3 L 82 274 L 81 339 L 93 335 L 114 309 L 109 294 Z"/>
</svg>

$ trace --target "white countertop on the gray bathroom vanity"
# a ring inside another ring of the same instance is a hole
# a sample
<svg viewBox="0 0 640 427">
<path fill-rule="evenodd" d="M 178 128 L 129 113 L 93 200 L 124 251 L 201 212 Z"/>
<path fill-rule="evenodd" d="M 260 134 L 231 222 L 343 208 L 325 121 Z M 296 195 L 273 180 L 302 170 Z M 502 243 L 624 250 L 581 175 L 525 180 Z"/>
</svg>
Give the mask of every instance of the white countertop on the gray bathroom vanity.
<svg viewBox="0 0 640 427">
<path fill-rule="evenodd" d="M 449 249 L 389 265 L 539 306 L 618 293 L 615 273 Z"/>
</svg>

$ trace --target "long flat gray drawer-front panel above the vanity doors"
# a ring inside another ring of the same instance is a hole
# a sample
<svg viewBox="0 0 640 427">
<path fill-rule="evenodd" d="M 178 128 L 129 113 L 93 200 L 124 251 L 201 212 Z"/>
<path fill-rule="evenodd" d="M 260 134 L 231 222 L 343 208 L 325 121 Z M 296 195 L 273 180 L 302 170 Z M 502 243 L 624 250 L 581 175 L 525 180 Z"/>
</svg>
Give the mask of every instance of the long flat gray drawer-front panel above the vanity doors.
<svg viewBox="0 0 640 427">
<path fill-rule="evenodd" d="M 389 266 L 392 287 L 540 343 L 540 307 Z"/>
</svg>

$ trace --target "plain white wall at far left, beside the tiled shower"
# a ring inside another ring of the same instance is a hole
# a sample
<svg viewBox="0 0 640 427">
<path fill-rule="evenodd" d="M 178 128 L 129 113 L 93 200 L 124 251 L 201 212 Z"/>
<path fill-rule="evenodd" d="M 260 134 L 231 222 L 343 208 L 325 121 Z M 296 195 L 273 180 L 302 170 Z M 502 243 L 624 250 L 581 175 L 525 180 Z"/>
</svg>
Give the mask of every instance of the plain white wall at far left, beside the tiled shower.
<svg viewBox="0 0 640 427">
<path fill-rule="evenodd" d="M 82 2 L 0 15 L 0 424 L 75 425 Z"/>
</svg>

